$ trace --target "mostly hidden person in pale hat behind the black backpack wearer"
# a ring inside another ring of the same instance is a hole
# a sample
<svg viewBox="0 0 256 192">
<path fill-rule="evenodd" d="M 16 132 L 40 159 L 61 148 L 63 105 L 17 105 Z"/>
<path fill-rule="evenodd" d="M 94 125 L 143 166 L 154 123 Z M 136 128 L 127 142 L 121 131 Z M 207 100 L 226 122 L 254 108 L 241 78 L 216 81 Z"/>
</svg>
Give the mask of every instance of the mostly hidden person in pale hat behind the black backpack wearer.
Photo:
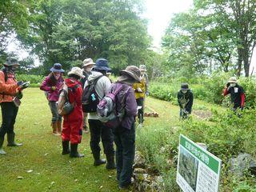
<svg viewBox="0 0 256 192">
<path fill-rule="evenodd" d="M 95 62 L 91 58 L 86 58 L 82 62 L 82 74 L 85 76 L 85 78 L 81 78 L 82 88 L 85 86 L 85 83 L 91 74 L 91 70 L 93 69 L 95 65 Z M 87 113 L 83 113 L 83 130 L 87 134 L 89 132 L 88 126 L 87 126 Z"/>
</svg>

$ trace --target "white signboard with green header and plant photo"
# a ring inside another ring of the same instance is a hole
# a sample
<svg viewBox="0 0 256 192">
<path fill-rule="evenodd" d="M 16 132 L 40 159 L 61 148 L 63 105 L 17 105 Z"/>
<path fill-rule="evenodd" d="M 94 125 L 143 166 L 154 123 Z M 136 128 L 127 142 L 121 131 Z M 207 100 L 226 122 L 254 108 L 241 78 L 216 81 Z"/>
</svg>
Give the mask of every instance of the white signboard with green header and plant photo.
<svg viewBox="0 0 256 192">
<path fill-rule="evenodd" d="M 222 161 L 180 135 L 176 182 L 184 192 L 218 192 Z"/>
</svg>

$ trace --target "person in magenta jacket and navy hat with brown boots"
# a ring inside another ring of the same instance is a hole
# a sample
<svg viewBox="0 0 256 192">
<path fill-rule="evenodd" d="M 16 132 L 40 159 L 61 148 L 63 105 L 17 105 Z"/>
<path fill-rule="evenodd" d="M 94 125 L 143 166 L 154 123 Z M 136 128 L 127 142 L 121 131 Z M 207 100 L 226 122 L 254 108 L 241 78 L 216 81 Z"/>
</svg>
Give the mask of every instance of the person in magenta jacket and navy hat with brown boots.
<svg viewBox="0 0 256 192">
<path fill-rule="evenodd" d="M 54 135 L 61 135 L 62 133 L 62 116 L 58 114 L 58 96 L 59 90 L 63 86 L 62 65 L 60 63 L 54 63 L 54 66 L 50 69 L 50 74 L 42 82 L 40 90 L 44 90 L 46 98 L 49 102 L 50 111 L 52 114 L 51 126 Z"/>
</svg>

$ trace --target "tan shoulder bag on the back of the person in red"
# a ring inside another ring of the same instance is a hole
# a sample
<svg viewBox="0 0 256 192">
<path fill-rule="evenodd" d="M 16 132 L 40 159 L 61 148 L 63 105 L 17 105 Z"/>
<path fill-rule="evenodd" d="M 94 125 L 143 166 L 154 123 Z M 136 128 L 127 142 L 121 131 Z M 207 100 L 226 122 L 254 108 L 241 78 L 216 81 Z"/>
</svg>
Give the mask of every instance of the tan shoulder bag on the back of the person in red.
<svg viewBox="0 0 256 192">
<path fill-rule="evenodd" d="M 78 88 L 79 84 L 74 87 L 68 87 L 66 83 L 64 83 L 64 86 L 62 90 L 60 90 L 60 94 L 58 97 L 58 114 L 60 115 L 67 115 L 70 114 L 76 105 L 75 102 L 70 103 L 69 101 L 69 91 L 72 91 L 73 93 Z"/>
</svg>

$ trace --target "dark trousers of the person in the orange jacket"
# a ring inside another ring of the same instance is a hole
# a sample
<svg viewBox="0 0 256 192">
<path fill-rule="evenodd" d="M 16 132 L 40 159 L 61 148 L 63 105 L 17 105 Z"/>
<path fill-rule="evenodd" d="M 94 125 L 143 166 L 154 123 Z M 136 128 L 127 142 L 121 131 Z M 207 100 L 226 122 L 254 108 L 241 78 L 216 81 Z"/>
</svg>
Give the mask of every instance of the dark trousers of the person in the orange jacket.
<svg viewBox="0 0 256 192">
<path fill-rule="evenodd" d="M 0 137 L 4 138 L 7 134 L 14 134 L 14 124 L 18 114 L 18 107 L 14 102 L 2 102 L 2 126 L 0 128 Z"/>
</svg>

